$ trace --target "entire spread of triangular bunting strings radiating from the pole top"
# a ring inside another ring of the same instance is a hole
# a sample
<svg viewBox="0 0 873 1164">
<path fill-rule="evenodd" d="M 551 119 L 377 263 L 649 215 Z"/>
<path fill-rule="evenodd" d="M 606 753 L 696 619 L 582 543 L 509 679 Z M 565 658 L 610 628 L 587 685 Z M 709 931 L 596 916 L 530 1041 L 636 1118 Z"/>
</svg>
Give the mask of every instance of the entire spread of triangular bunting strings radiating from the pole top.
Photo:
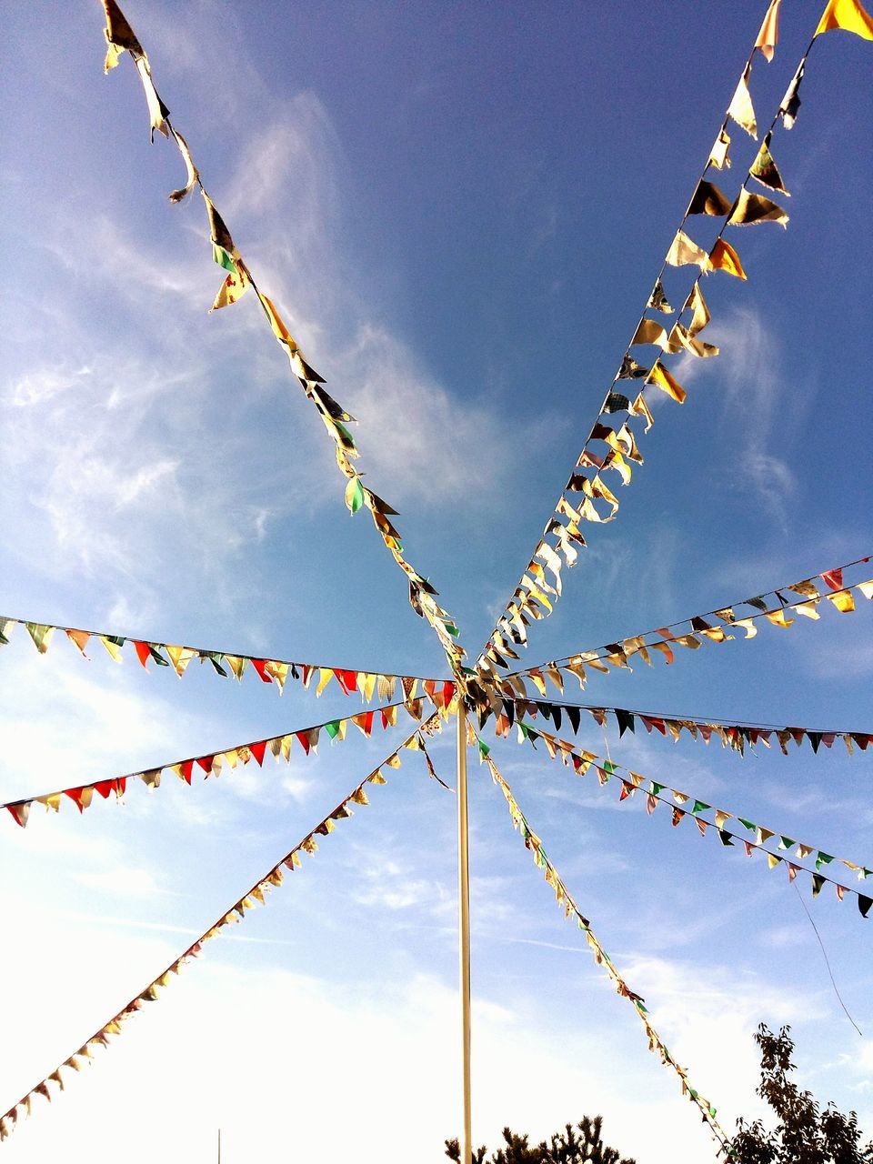
<svg viewBox="0 0 873 1164">
<path fill-rule="evenodd" d="M 760 52 L 769 62 L 773 59 L 778 44 L 781 0 L 771 0 L 761 29 L 743 69 L 712 149 L 695 185 L 688 208 L 682 215 L 679 228 L 665 255 L 651 294 L 646 300 L 646 307 L 633 331 L 631 342 L 622 356 L 618 370 L 598 411 L 597 419 L 591 427 L 588 440 L 584 443 L 567 487 L 555 506 L 554 513 L 544 530 L 542 538 L 521 576 L 519 585 L 506 604 L 503 615 L 497 620 L 488 643 L 477 656 L 475 669 L 463 663 L 466 652 L 460 644 L 457 625 L 452 616 L 436 602 L 436 590 L 409 562 L 400 534 L 391 521 L 391 518 L 397 516 L 396 511 L 377 494 L 364 485 L 361 474 L 355 468 L 354 462 L 359 457 L 359 449 L 348 428 L 354 418 L 328 395 L 324 386 L 325 381 L 304 359 L 275 303 L 257 288 L 251 270 L 242 258 L 227 225 L 203 185 L 200 172 L 193 161 L 187 142 L 172 123 L 170 111 L 157 92 L 151 74 L 151 65 L 142 44 L 115 0 L 102 0 L 102 6 L 106 15 L 106 71 L 108 72 L 113 69 L 125 52 L 129 54 L 143 85 L 152 141 L 156 130 L 166 139 L 172 137 L 184 162 L 186 172 L 185 184 L 170 194 L 170 200 L 172 203 L 180 203 L 194 189 L 199 190 L 204 199 L 212 242 L 212 255 L 225 272 L 212 310 L 218 311 L 233 305 L 242 298 L 249 286 L 253 288 L 275 339 L 289 359 L 294 377 L 300 383 L 307 399 L 315 407 L 334 443 L 336 462 L 346 480 L 346 505 L 352 513 L 356 513 L 361 509 L 367 509 L 370 512 L 383 544 L 406 576 L 410 602 L 413 609 L 430 623 L 442 645 L 452 677 L 433 679 L 390 675 L 378 672 L 328 667 L 320 663 L 256 658 L 227 651 L 177 646 L 146 638 L 130 638 L 108 632 L 77 630 L 76 627 L 51 623 L 0 618 L 0 645 L 8 643 L 8 634 L 14 626 L 21 625 L 26 629 L 27 634 L 29 634 L 41 654 L 48 651 L 54 633 L 61 631 L 76 645 L 85 658 L 87 658 L 86 647 L 88 647 L 92 639 L 99 640 L 116 662 L 121 661 L 123 648 L 129 644 L 133 646 L 133 651 L 143 668 L 148 669 L 149 662 L 154 662 L 158 667 L 172 668 L 179 677 L 185 673 L 187 666 L 197 659 L 200 663 L 208 662 L 214 672 L 223 677 L 234 675 L 237 680 L 241 680 L 243 673 L 250 669 L 258 675 L 263 683 L 272 683 L 279 691 L 283 690 L 290 675 L 292 680 L 300 681 L 306 690 L 314 687 L 315 694 L 319 696 L 335 680 L 339 688 L 346 695 L 357 691 L 365 703 L 369 703 L 374 696 L 383 701 L 381 707 L 364 710 L 353 716 L 325 721 L 314 726 L 294 730 L 271 738 L 236 744 L 230 748 L 223 748 L 211 754 L 189 757 L 183 760 L 171 761 L 146 771 L 127 773 L 121 776 L 97 779 L 86 785 L 42 793 L 31 797 L 9 801 L 0 805 L 21 826 L 27 824 L 29 811 L 34 803 L 42 804 L 47 810 L 58 811 L 61 804 L 65 800 L 70 800 L 81 812 L 92 803 L 94 793 L 101 799 L 108 799 L 112 794 L 120 799 L 127 789 L 128 781 L 132 780 L 139 780 L 150 788 L 157 788 L 161 783 L 162 774 L 171 772 L 185 783 L 191 785 L 194 773 L 199 771 L 204 773 L 204 779 L 206 779 L 211 775 L 217 776 L 222 768 L 233 769 L 237 765 L 248 764 L 253 759 L 257 765 L 262 765 L 268 751 L 277 760 L 289 760 L 293 746 L 298 746 L 308 755 L 317 750 L 322 732 L 333 741 L 346 738 L 349 724 L 353 724 L 365 737 L 369 737 L 376 726 L 381 725 L 382 729 L 395 726 L 399 708 L 405 708 L 416 722 L 413 731 L 406 739 L 390 752 L 303 840 L 278 863 L 272 865 L 242 897 L 232 904 L 194 943 L 189 945 L 173 959 L 143 991 L 135 995 L 126 1007 L 116 1012 L 78 1050 L 68 1056 L 55 1071 L 26 1092 L 22 1099 L 0 1116 L 0 1140 L 9 1135 L 23 1114 L 30 1114 L 35 1096 L 40 1095 L 51 1100 L 52 1091 L 50 1085 L 57 1085 L 57 1087 L 63 1090 L 68 1071 L 79 1071 L 83 1063 L 91 1058 L 94 1048 L 108 1045 L 109 1039 L 120 1034 L 125 1023 L 136 1012 L 142 1009 L 144 1003 L 157 1000 L 162 991 L 178 974 L 182 967 L 200 953 L 203 945 L 207 941 L 217 937 L 225 927 L 242 920 L 247 910 L 253 906 L 263 904 L 265 894 L 271 888 L 282 883 L 284 878 L 283 870 L 292 872 L 301 864 L 303 853 L 312 854 L 315 852 L 318 847 L 317 836 L 325 837 L 329 835 L 339 821 L 350 817 L 353 815 L 353 804 L 368 804 L 369 799 L 365 786 L 385 783 L 383 768 L 398 768 L 403 750 L 420 752 L 428 775 L 443 783 L 436 775 L 427 751 L 425 737 L 436 733 L 441 729 L 442 722 L 449 715 L 459 714 L 462 709 L 475 714 L 482 726 L 494 716 L 494 726 L 498 737 L 509 736 L 514 726 L 519 743 L 526 741 L 535 746 L 537 741 L 542 741 L 552 759 L 560 758 L 563 765 L 572 767 L 577 775 L 584 775 L 588 771 L 594 769 L 601 785 L 605 786 L 610 780 L 615 780 L 619 787 L 620 801 L 631 800 L 636 793 L 640 792 L 641 796 L 645 797 L 646 809 L 650 815 L 654 812 L 660 803 L 668 804 L 672 810 L 672 823 L 674 826 L 679 825 L 686 816 L 690 816 L 701 835 L 705 836 L 709 830 L 715 830 L 724 846 L 734 846 L 736 842 L 740 842 L 750 857 L 757 850 L 761 850 L 766 853 L 771 868 L 776 868 L 779 865 L 786 866 L 788 879 L 792 882 L 796 880 L 799 873 L 808 873 L 812 879 L 814 896 L 818 895 L 825 883 L 835 886 L 835 892 L 839 901 L 843 901 L 846 894 L 853 894 L 857 897 L 861 916 L 867 917 L 873 900 L 856 889 L 833 881 L 822 870 L 825 867 L 832 868 L 835 864 L 842 864 L 844 867 L 853 871 L 859 880 L 866 880 L 872 876 L 873 870 L 845 858 L 837 858 L 804 842 L 799 842 L 779 830 L 767 829 L 725 809 L 714 809 L 712 805 L 696 800 L 687 793 L 624 768 L 612 762 L 611 758 L 603 760 L 592 752 L 561 740 L 541 728 L 525 722 L 524 716 L 527 715 L 535 718 L 538 715 L 541 715 L 544 718 L 549 718 L 553 721 L 556 731 L 560 730 L 562 717 L 566 716 L 573 730 L 577 731 L 583 711 L 589 714 L 601 726 L 606 724 L 608 716 L 611 715 L 617 723 L 619 737 L 626 731 L 636 731 L 636 725 L 639 721 L 648 732 L 656 731 L 665 736 L 669 732 L 675 740 L 680 739 L 682 731 L 687 731 L 693 738 L 701 738 L 705 743 L 709 743 L 711 737 L 716 736 L 721 739 L 723 746 L 731 747 L 740 754 L 744 753 L 746 746 L 762 744 L 769 747 L 774 736 L 785 754 L 788 754 L 788 745 L 792 740 L 799 746 L 803 740 L 808 740 L 812 752 L 817 753 L 822 745 L 830 748 L 838 738 L 843 739 L 850 754 L 853 753 L 856 746 L 861 751 L 866 751 L 871 741 L 873 741 L 873 733 L 866 731 L 812 730 L 809 728 L 780 728 L 748 723 L 730 724 L 704 718 L 668 717 L 623 708 L 580 707 L 548 701 L 546 698 L 546 679 L 562 693 L 565 677 L 568 675 L 574 675 L 580 686 L 584 687 L 589 669 L 601 673 L 609 673 L 611 667 L 630 669 L 630 660 L 636 656 L 641 658 L 644 662 L 651 665 L 653 652 L 660 654 L 665 662 L 672 663 L 675 659 L 674 648 L 679 646 L 696 650 L 707 639 L 712 643 L 726 643 L 736 638 L 736 632 L 739 629 L 745 632 L 746 639 L 753 638 L 758 633 L 758 623 L 761 619 L 766 619 L 780 627 L 793 625 L 797 615 L 810 619 L 818 619 L 818 608 L 822 604 L 822 599 L 826 599 L 839 612 L 849 613 L 854 610 L 856 595 L 864 598 L 873 598 L 873 580 L 860 580 L 847 584 L 844 580 L 844 570 L 867 563 L 870 561 L 868 558 L 858 559 L 854 562 L 847 563 L 847 566 L 825 570 L 815 579 L 805 579 L 801 582 L 781 587 L 778 590 L 767 591 L 766 594 L 743 599 L 741 602 L 734 602 L 728 606 L 709 611 L 705 615 L 695 615 L 690 619 L 670 624 L 667 627 L 626 636 L 616 643 L 589 651 L 576 652 L 573 655 L 552 660 L 540 666 L 512 672 L 510 670 L 511 665 L 509 662 L 511 659 L 519 659 L 516 647 L 526 645 L 527 627 L 531 622 L 547 617 L 552 612 L 554 603 L 561 596 L 562 568 L 565 565 L 575 565 L 579 560 L 579 549 L 585 546 L 581 523 L 605 524 L 616 517 L 619 503 L 610 484 L 604 481 L 604 475 L 612 470 L 618 474 L 620 483 L 627 485 L 632 478 L 633 467 L 643 463 L 643 456 L 637 446 L 639 431 L 634 432 L 632 430 L 631 420 L 641 419 L 645 424 L 645 432 L 648 432 L 652 427 L 653 418 L 647 403 L 647 391 L 662 391 L 679 404 L 684 402 L 684 389 L 673 376 L 665 363 L 665 359 L 681 353 L 690 354 L 697 359 L 710 359 L 718 355 L 717 347 L 701 339 L 701 333 L 711 319 L 709 306 L 703 296 L 702 277 L 714 271 L 723 271 L 739 279 L 746 278 L 739 254 L 729 239 L 725 237 L 728 227 L 752 226 L 762 222 L 773 222 L 781 226 L 787 225 L 788 214 L 785 207 L 771 198 L 771 194 L 778 194 L 782 198 L 789 197 L 789 192 L 786 189 L 782 175 L 772 152 L 773 134 L 780 122 L 785 129 L 790 129 L 796 121 L 800 109 L 800 87 L 809 54 L 822 34 L 843 29 L 865 40 L 873 41 L 873 19 L 871 19 L 859 0 L 828 0 L 809 48 L 794 72 L 788 90 L 771 121 L 769 128 L 760 139 L 759 148 L 746 171 L 741 186 L 730 197 L 719 189 L 715 180 L 714 171 L 723 173 L 731 166 L 730 151 L 732 141 L 730 135 L 734 132 L 733 126 L 743 129 L 755 141 L 759 139 L 758 118 L 750 91 L 750 78 L 755 54 Z M 751 185 L 751 183 L 755 183 L 757 185 Z M 761 193 L 761 187 L 768 191 L 768 193 Z M 688 219 L 696 215 L 722 220 L 716 241 L 709 248 L 700 247 L 686 230 Z M 697 268 L 697 274 L 694 277 L 690 289 L 682 292 L 681 301 L 683 306 L 679 311 L 670 306 L 667 299 L 667 289 L 665 288 L 663 278 L 668 267 Z M 655 312 L 658 315 L 650 315 L 647 312 Z M 672 319 L 672 322 L 667 321 L 669 322 L 669 327 L 661 321 L 663 317 L 675 317 Z M 655 348 L 659 354 L 646 363 L 638 362 L 637 356 L 639 353 L 632 349 L 641 347 Z M 627 384 L 637 382 L 633 392 L 630 392 L 627 386 L 620 382 L 627 382 Z M 620 391 L 620 388 L 624 388 L 625 391 Z M 633 399 L 631 399 L 632 396 Z M 619 425 L 612 418 L 623 413 L 626 414 L 627 419 L 623 420 Z M 615 480 L 610 478 L 610 483 L 613 483 Z M 819 585 L 819 580 L 824 583 L 824 588 Z M 787 596 L 788 591 L 792 591 L 790 596 Z M 744 606 L 748 606 L 751 610 L 745 611 L 743 610 Z M 542 698 L 530 698 L 526 687 L 528 682 Z M 393 700 L 398 684 L 403 701 L 399 703 L 384 702 Z M 434 710 L 431 711 L 428 708 L 428 717 L 424 718 L 427 707 L 426 701 Z M 588 918 L 581 913 L 547 857 L 542 842 L 521 812 L 509 783 L 499 773 L 490 754 L 489 746 L 476 734 L 469 722 L 468 743 L 477 744 L 481 760 L 489 766 L 494 782 L 501 788 L 506 800 L 513 825 L 521 833 L 525 845 L 533 854 L 535 864 L 544 871 L 545 879 L 554 890 L 558 903 L 563 907 L 567 917 L 576 920 L 594 953 L 595 960 L 605 970 L 618 994 L 630 1000 L 637 1010 L 648 1037 L 650 1050 L 658 1053 L 661 1062 L 679 1076 L 682 1093 L 698 1108 L 703 1121 L 718 1144 L 719 1152 L 724 1151 L 730 1155 L 730 1141 L 717 1122 L 715 1107 L 690 1086 L 686 1069 L 676 1062 L 652 1027 L 643 999 L 630 989 L 623 975 L 605 953 L 598 938 L 594 935 Z M 443 787 L 448 786 L 443 785 Z M 688 807 L 689 803 L 690 808 Z M 708 814 L 711 814 L 711 819 Z M 753 839 L 730 831 L 728 829 L 730 821 L 736 821 Z M 775 845 L 775 849 L 768 847 L 771 843 Z M 815 863 L 815 871 L 797 864 L 797 861 L 809 858 Z"/>
</svg>

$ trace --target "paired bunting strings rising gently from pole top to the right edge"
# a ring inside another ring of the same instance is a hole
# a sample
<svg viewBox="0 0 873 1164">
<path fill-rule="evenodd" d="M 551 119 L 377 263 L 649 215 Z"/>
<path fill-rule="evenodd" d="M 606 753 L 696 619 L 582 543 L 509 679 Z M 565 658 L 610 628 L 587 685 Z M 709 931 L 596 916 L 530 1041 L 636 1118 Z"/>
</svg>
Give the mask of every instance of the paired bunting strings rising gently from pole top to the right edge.
<svg viewBox="0 0 873 1164">
<path fill-rule="evenodd" d="M 856 609 L 854 595 L 863 598 L 873 598 L 873 579 L 863 582 L 854 582 L 851 585 L 844 583 L 843 574 L 851 567 L 870 561 L 870 558 L 860 558 L 845 566 L 837 566 L 833 569 L 824 570 L 815 577 L 803 579 L 800 582 L 790 582 L 788 585 L 779 587 L 775 590 L 766 590 L 764 594 L 751 598 L 743 598 L 730 605 L 709 610 L 704 615 L 693 615 L 690 618 L 682 618 L 679 622 L 669 623 L 667 626 L 655 627 L 631 634 L 617 643 L 606 643 L 589 651 L 579 651 L 575 654 L 566 655 L 562 659 L 553 659 L 537 667 L 528 667 L 525 670 L 510 672 L 503 676 L 497 686 L 499 690 L 509 697 L 516 695 L 527 698 L 525 680 L 530 680 L 539 691 L 545 693 L 545 680 L 548 679 L 559 691 L 563 691 L 563 681 L 568 675 L 575 675 L 579 686 L 584 688 L 587 673 L 589 669 L 602 674 L 609 674 L 610 667 L 624 667 L 631 670 L 629 660 L 639 656 L 650 667 L 652 666 L 652 654 L 660 654 L 665 662 L 672 663 L 675 659 L 674 647 L 681 646 L 689 651 L 698 650 L 704 641 L 731 643 L 736 636 L 730 633 L 741 629 L 745 632 L 745 640 L 753 639 L 758 634 L 758 623 L 766 619 L 773 626 L 787 630 L 793 626 L 796 619 L 790 615 L 803 615 L 814 622 L 821 618 L 818 606 L 822 598 L 826 598 L 829 604 L 842 615 L 852 613 Z M 817 584 L 821 579 L 826 589 Z M 792 590 L 800 595 L 793 602 L 785 596 L 783 591 Z M 737 610 L 741 606 L 751 606 L 751 613 Z M 714 622 L 718 619 L 718 622 Z M 653 637 L 653 636 L 656 636 Z"/>
</svg>

